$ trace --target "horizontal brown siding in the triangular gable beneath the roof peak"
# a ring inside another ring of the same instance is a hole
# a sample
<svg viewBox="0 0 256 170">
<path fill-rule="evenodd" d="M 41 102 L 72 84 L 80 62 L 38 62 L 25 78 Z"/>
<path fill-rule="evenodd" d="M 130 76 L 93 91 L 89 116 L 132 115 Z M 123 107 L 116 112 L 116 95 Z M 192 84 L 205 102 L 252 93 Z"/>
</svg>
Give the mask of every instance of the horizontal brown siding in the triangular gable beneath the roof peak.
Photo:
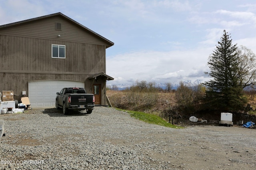
<svg viewBox="0 0 256 170">
<path fill-rule="evenodd" d="M 62 30 L 56 30 L 56 23 L 62 24 Z M 70 22 L 60 16 L 2 28 L 0 29 L 0 34 L 12 35 L 14 37 L 61 40 L 109 46 L 108 43 L 97 37 L 92 32 L 87 31 L 81 26 L 75 25 L 73 22 Z M 60 35 L 60 37 L 58 37 L 58 35 Z"/>
</svg>

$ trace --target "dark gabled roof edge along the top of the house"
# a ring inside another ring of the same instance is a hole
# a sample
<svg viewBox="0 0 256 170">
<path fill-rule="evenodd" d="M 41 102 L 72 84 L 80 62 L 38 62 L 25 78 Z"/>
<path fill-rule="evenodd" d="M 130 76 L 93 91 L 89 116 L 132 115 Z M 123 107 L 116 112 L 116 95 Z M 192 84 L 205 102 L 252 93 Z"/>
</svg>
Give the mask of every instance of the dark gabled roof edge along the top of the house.
<svg viewBox="0 0 256 170">
<path fill-rule="evenodd" d="M 114 43 L 112 41 L 106 39 L 105 37 L 102 37 L 98 33 L 92 31 L 91 29 L 85 27 L 84 25 L 78 23 L 77 21 L 72 20 L 71 18 L 69 18 L 68 16 L 65 16 L 61 12 L 58 12 L 58 13 L 55 13 L 55 14 L 46 15 L 46 16 L 36 17 L 36 18 L 28 19 L 28 20 L 18 21 L 18 22 L 14 22 L 14 23 L 8 23 L 8 24 L 5 24 L 5 25 L 0 25 L 0 29 L 4 29 L 4 28 L 7 28 L 7 27 L 12 27 L 12 26 L 20 25 L 20 24 L 23 24 L 23 23 L 33 22 L 33 21 L 36 21 L 36 20 L 42 20 L 42 19 L 46 19 L 46 18 L 51 18 L 51 17 L 55 17 L 55 16 L 60 16 L 60 17 L 64 18 L 65 20 L 70 21 L 74 25 L 77 25 L 77 26 L 81 27 L 85 31 L 90 32 L 91 34 L 93 34 L 94 36 L 98 37 L 99 39 L 102 39 L 104 42 L 106 42 L 108 44 L 106 46 L 106 48 L 111 47 L 112 45 L 114 45 Z"/>
</svg>

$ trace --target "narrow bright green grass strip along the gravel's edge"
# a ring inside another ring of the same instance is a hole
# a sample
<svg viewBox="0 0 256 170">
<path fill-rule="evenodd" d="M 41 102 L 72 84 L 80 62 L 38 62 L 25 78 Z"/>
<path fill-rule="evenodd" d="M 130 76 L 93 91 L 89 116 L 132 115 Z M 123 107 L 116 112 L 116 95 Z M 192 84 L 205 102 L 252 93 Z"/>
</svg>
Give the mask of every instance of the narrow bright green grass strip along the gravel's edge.
<svg viewBox="0 0 256 170">
<path fill-rule="evenodd" d="M 120 110 L 120 111 L 126 111 L 127 113 L 130 113 L 130 115 L 132 117 L 135 117 L 136 119 L 139 119 L 146 123 L 161 125 L 161 126 L 171 127 L 171 128 L 179 128 L 179 129 L 183 128 L 183 127 L 172 125 L 171 123 L 166 122 L 164 119 L 162 119 L 158 115 L 153 115 L 150 113 L 144 113 L 144 112 L 140 112 L 140 111 L 130 111 L 130 110 L 123 110 L 123 109 L 118 109 L 118 108 L 116 108 L 116 109 Z"/>
</svg>

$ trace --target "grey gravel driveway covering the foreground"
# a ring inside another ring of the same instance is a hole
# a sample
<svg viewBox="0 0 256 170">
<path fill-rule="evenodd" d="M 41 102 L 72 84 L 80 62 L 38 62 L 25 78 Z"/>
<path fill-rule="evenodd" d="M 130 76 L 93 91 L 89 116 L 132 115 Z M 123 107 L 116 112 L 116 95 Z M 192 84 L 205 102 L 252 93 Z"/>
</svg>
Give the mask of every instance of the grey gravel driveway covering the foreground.
<svg viewBox="0 0 256 170">
<path fill-rule="evenodd" d="M 255 169 L 256 130 L 144 123 L 114 108 L 63 115 L 56 109 L 2 114 L 0 169 Z"/>
</svg>

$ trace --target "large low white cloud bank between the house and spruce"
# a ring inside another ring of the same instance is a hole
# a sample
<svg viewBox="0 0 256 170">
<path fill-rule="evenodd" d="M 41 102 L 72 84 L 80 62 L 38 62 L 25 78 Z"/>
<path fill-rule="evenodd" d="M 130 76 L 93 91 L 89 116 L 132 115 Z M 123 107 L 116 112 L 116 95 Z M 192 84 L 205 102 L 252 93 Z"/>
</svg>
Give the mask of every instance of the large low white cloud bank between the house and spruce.
<svg viewBox="0 0 256 170">
<path fill-rule="evenodd" d="M 107 59 L 107 74 L 115 78 L 112 84 L 136 80 L 170 82 L 202 78 L 208 71 L 209 49 L 195 51 L 141 51 L 124 53 Z M 117 79 L 116 79 L 117 78 Z"/>
</svg>

